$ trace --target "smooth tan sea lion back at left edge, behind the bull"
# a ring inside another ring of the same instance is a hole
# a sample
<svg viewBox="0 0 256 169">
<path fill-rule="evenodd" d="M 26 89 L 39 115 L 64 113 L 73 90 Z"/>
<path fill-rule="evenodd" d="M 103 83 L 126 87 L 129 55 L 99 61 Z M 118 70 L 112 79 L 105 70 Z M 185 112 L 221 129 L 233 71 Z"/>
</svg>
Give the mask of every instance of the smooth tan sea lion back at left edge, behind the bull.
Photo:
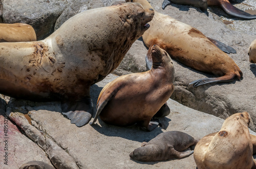
<svg viewBox="0 0 256 169">
<path fill-rule="evenodd" d="M 0 42 L 36 41 L 32 26 L 25 23 L 0 23 Z"/>
</svg>

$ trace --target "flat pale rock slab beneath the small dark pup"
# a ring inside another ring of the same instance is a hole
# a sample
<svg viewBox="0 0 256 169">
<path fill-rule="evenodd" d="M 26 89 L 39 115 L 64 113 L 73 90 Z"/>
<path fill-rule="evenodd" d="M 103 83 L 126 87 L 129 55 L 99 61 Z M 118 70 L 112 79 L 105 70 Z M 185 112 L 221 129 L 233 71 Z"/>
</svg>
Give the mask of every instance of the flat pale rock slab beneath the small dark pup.
<svg viewBox="0 0 256 169">
<path fill-rule="evenodd" d="M 102 88 L 116 77 L 116 75 L 110 74 L 91 87 L 94 105 L 96 105 Z M 18 103 L 19 100 L 12 102 L 12 105 L 15 106 L 22 105 Z M 14 102 L 16 103 L 14 104 Z M 117 168 L 194 169 L 196 163 L 193 155 L 179 160 L 136 162 L 130 159 L 129 154 L 140 147 L 143 140 L 150 140 L 161 132 L 178 130 L 198 139 L 206 134 L 219 131 L 224 122 L 223 119 L 185 107 L 169 99 L 167 104 L 170 107 L 170 115 L 160 119 L 160 123 L 166 127 L 166 130 L 158 127 L 151 132 L 146 132 L 140 130 L 136 125 L 117 127 L 105 124 L 100 119 L 95 125 L 76 127 L 61 114 L 59 102 L 37 102 L 36 104 L 30 102 L 29 104 L 31 103 L 33 109 L 29 111 L 31 122 L 41 132 L 40 134 L 34 132 L 34 134 L 45 136 L 46 145 L 42 147 L 46 147 L 46 153 L 57 168 L 111 168 L 115 166 Z M 11 105 L 9 107 L 12 108 Z M 17 106 L 15 109 L 18 109 Z M 95 111 L 96 109 L 94 114 Z M 16 119 L 15 121 L 23 120 Z"/>
</svg>

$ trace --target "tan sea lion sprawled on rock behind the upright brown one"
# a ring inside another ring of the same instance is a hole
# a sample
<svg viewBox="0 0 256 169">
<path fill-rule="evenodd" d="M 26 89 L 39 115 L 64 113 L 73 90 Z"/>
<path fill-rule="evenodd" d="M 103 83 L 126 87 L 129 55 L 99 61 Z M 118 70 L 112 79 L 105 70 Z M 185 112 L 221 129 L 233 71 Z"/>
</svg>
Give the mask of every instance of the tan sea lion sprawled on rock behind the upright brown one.
<svg viewBox="0 0 256 169">
<path fill-rule="evenodd" d="M 126 0 L 129 1 L 131 0 Z M 144 8 L 152 8 L 146 0 L 133 2 L 140 3 Z M 148 48 L 157 44 L 166 50 L 172 59 L 199 71 L 221 76 L 195 80 L 189 85 L 194 84 L 193 86 L 197 87 L 211 82 L 232 81 L 236 76 L 241 78 L 242 71 L 237 64 L 194 27 L 156 11 L 149 23 L 150 29 L 142 35 Z M 151 67 L 150 53 L 147 53 L 146 64 Z"/>
</svg>

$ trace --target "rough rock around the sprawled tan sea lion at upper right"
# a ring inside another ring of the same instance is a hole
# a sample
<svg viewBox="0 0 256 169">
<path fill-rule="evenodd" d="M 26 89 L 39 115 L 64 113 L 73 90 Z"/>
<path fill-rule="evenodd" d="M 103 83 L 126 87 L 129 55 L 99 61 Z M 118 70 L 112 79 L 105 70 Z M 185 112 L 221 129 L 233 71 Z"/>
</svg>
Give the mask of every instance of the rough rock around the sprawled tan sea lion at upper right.
<svg viewBox="0 0 256 169">
<path fill-rule="evenodd" d="M 175 91 L 171 98 L 185 106 L 215 115 L 222 119 L 226 119 L 236 112 L 247 111 L 253 121 L 250 128 L 256 131 L 256 65 L 249 63 L 247 54 L 250 43 L 256 39 L 256 19 L 248 21 L 226 18 L 228 17 L 226 15 L 219 16 L 218 11 L 211 11 L 211 7 L 208 9 L 209 17 L 200 11 L 200 9 L 191 6 L 172 4 L 167 6 L 165 10 L 162 10 L 162 1 L 149 2 L 156 11 L 194 26 L 207 37 L 219 40 L 236 49 L 237 53 L 228 55 L 237 63 L 243 72 L 243 78 L 241 80 L 236 79 L 226 83 L 211 83 L 193 88 L 188 85 L 189 82 L 215 76 L 197 71 L 174 61 Z M 255 1 L 247 0 L 246 3 L 250 3 L 250 6 L 256 11 Z M 216 16 L 212 17 L 213 15 Z M 223 23 L 223 20 L 232 20 L 233 23 L 226 25 Z M 145 65 L 144 58 L 146 52 L 147 49 L 141 41 L 136 41 L 125 55 L 119 68 L 132 72 L 143 70 L 141 68 Z M 133 63 L 134 68 L 131 69 L 129 65 L 126 66 L 127 63 Z"/>
</svg>

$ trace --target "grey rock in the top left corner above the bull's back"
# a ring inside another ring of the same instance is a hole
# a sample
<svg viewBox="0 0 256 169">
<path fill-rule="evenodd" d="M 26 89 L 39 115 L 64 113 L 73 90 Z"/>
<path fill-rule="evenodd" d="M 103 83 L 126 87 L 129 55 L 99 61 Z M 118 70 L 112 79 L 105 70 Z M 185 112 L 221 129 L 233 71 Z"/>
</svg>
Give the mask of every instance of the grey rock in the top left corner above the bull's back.
<svg viewBox="0 0 256 169">
<path fill-rule="evenodd" d="M 27 23 L 33 26 L 37 40 L 54 31 L 54 24 L 66 8 L 67 0 L 2 0 L 4 23 Z"/>
</svg>

